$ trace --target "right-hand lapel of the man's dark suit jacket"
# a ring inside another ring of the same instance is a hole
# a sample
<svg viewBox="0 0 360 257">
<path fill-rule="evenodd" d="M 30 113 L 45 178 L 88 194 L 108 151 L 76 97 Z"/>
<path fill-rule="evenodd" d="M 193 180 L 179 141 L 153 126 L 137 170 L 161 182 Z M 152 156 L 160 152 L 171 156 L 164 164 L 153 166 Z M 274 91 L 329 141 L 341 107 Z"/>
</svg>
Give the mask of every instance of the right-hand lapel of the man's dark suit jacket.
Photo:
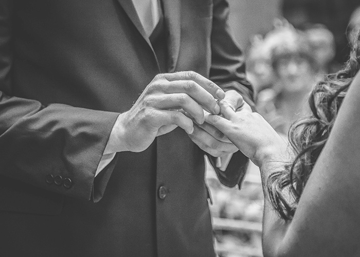
<svg viewBox="0 0 360 257">
<path fill-rule="evenodd" d="M 173 72 L 176 67 L 177 58 L 180 49 L 180 32 L 181 32 L 181 1 L 163 0 L 165 23 L 169 29 L 168 52 L 169 52 L 169 72 Z"/>
</svg>

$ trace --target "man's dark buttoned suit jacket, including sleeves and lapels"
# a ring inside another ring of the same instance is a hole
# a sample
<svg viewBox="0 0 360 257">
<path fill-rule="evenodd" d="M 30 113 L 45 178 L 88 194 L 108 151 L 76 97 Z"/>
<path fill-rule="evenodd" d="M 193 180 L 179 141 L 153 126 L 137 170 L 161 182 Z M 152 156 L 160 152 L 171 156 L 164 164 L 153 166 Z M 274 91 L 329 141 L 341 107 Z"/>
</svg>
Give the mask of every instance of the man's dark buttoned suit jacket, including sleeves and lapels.
<svg viewBox="0 0 360 257">
<path fill-rule="evenodd" d="M 169 71 L 250 102 L 226 1 L 163 5 Z M 204 152 L 181 129 L 94 180 L 118 114 L 159 73 L 143 34 L 131 0 L 0 1 L 0 256 L 214 256 Z M 221 181 L 245 164 L 235 154 Z"/>
</svg>

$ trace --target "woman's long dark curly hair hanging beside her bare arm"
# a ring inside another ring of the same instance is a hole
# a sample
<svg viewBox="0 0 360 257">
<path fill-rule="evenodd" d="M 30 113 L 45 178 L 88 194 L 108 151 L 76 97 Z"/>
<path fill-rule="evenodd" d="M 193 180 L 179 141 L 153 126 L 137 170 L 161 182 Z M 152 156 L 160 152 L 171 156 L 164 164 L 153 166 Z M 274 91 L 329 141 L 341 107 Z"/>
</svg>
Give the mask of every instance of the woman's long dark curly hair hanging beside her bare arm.
<svg viewBox="0 0 360 257">
<path fill-rule="evenodd" d="M 292 124 L 289 142 L 296 157 L 282 171 L 272 173 L 267 180 L 269 200 L 285 220 L 295 214 L 300 196 L 333 128 L 337 113 L 349 85 L 359 70 L 360 32 L 344 68 L 325 76 L 314 87 L 309 98 L 311 115 Z"/>
</svg>

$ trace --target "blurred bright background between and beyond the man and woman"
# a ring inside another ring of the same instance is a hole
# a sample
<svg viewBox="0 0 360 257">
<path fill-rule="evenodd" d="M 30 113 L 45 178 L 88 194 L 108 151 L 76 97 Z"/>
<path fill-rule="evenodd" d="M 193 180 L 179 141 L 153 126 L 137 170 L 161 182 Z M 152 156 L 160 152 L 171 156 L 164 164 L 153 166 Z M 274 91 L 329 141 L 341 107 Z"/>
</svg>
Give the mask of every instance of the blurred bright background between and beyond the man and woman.
<svg viewBox="0 0 360 257">
<path fill-rule="evenodd" d="M 257 112 L 284 138 L 309 113 L 317 81 L 348 59 L 352 33 L 360 27 L 355 0 L 228 0 L 230 27 L 246 58 L 256 90 Z M 215 249 L 220 257 L 262 256 L 263 193 L 250 164 L 242 189 L 220 184 L 207 165 Z"/>
</svg>

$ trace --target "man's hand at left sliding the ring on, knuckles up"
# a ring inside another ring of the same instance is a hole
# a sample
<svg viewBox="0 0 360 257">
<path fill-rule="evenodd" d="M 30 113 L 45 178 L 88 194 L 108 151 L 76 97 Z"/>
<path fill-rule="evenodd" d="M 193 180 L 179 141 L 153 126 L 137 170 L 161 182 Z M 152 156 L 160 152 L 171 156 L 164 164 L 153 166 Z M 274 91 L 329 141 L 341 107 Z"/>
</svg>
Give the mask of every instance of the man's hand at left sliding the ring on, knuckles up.
<svg viewBox="0 0 360 257">
<path fill-rule="evenodd" d="M 215 83 L 193 71 L 159 74 L 143 90 L 133 107 L 119 115 L 104 154 L 146 150 L 156 136 L 182 127 L 188 134 L 194 130 L 193 121 L 204 123 L 204 109 L 219 114 L 217 100 L 225 97 Z"/>
</svg>

